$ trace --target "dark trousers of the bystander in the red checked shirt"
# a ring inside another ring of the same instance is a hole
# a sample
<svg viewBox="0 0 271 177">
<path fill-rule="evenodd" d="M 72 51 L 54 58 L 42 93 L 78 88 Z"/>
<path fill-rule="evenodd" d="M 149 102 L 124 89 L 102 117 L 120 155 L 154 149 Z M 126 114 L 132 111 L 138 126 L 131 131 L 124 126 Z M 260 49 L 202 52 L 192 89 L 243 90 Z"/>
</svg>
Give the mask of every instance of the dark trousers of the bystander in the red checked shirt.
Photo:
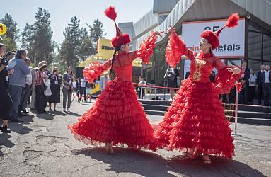
<svg viewBox="0 0 271 177">
<path fill-rule="evenodd" d="M 38 86 L 35 86 L 35 94 L 35 109 L 42 113 L 45 111 L 47 105 L 47 96 L 45 96 L 44 92 L 41 91 Z"/>
</svg>

